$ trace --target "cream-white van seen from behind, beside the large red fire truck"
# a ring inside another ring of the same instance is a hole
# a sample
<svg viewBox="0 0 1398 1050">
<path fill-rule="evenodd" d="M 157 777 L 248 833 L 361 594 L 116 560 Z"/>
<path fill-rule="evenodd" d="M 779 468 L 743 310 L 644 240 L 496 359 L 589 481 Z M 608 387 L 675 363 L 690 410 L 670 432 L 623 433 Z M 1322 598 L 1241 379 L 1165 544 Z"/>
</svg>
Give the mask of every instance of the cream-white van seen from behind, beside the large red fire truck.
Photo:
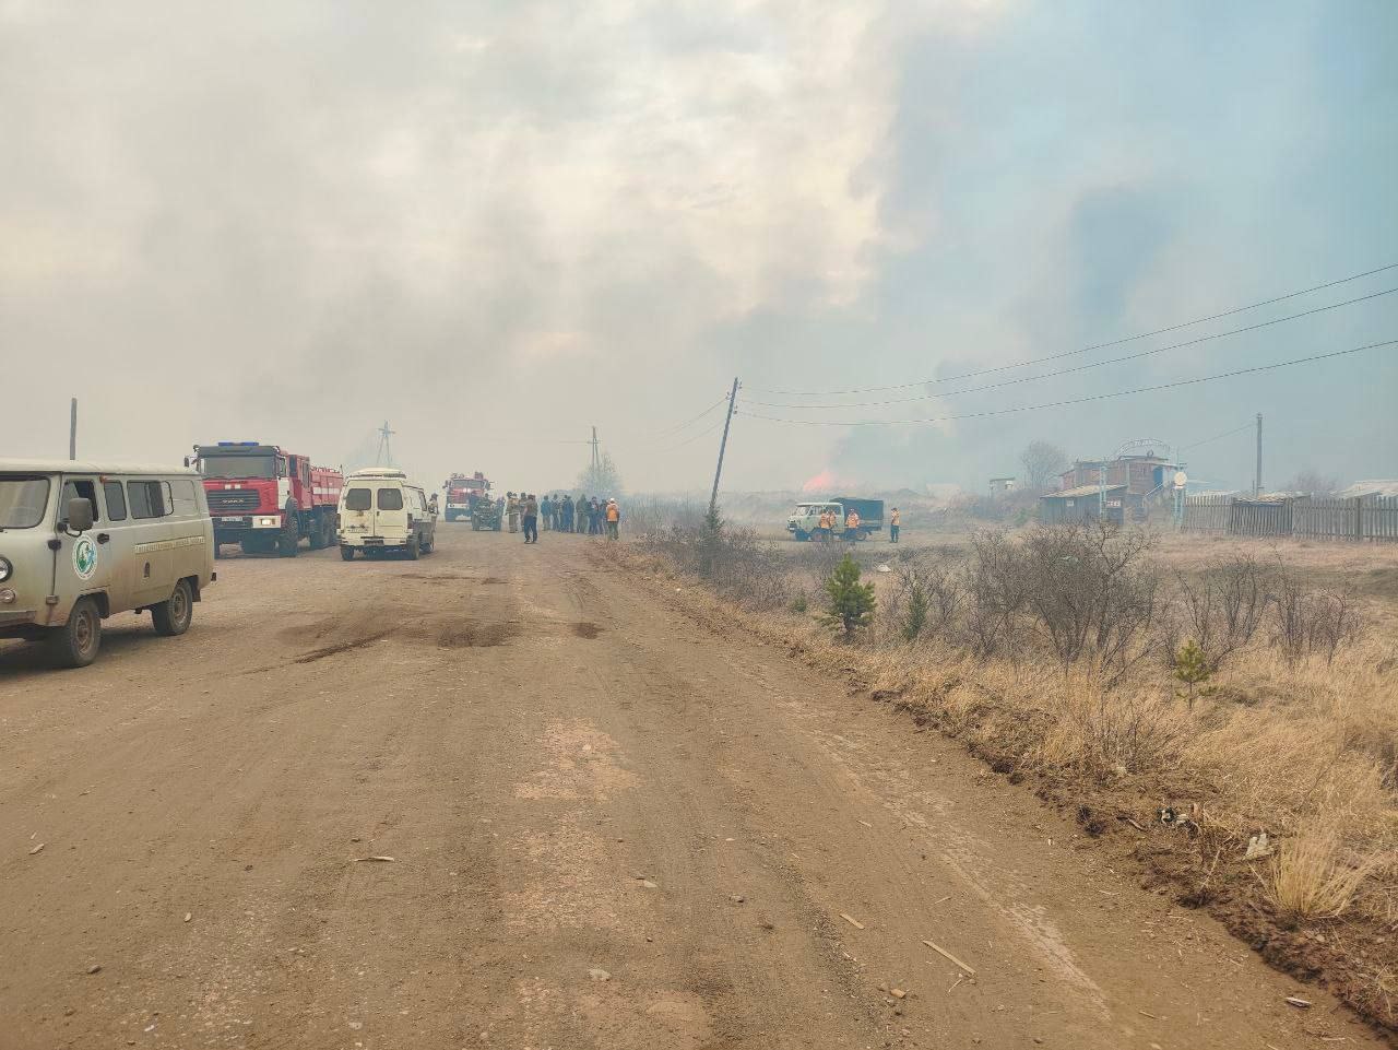
<svg viewBox="0 0 1398 1050">
<path fill-rule="evenodd" d="M 436 540 L 436 499 L 408 481 L 401 470 L 356 470 L 340 491 L 340 556 L 355 551 L 377 556 L 384 551 L 432 554 Z"/>
</svg>

